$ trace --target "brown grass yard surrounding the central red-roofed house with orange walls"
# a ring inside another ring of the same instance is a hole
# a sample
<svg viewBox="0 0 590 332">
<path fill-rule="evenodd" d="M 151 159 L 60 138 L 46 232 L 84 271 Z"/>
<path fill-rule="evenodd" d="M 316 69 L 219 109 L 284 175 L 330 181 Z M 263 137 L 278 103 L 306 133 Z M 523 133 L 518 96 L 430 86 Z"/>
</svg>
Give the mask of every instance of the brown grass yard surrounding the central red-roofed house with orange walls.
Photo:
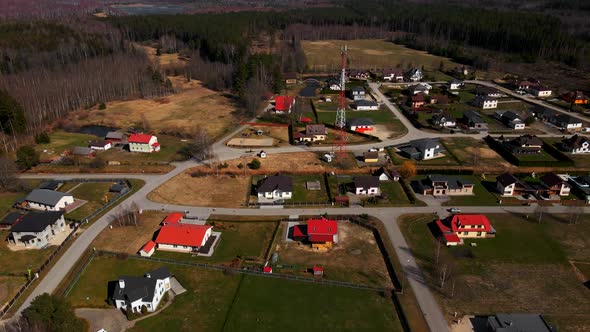
<svg viewBox="0 0 590 332">
<path fill-rule="evenodd" d="M 286 231 L 285 226 L 281 226 L 283 231 Z M 314 251 L 309 245 L 300 242 L 284 241 L 277 244 L 275 249 L 281 264 L 297 265 L 293 271 L 295 274 L 309 276 L 307 269 L 321 265 L 325 268 L 326 279 L 393 287 L 383 256 L 370 230 L 341 222 L 338 223 L 338 238 L 338 243 L 327 252 Z"/>
</svg>

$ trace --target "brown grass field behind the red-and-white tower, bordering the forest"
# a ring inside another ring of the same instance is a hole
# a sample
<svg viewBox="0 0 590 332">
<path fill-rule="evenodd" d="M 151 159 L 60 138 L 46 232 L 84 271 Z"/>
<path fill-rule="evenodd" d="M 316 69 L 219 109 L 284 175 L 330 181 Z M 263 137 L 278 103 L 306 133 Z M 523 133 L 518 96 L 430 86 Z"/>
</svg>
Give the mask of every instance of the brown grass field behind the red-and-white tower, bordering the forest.
<svg viewBox="0 0 590 332">
<path fill-rule="evenodd" d="M 426 70 L 436 70 L 443 61 L 445 68 L 457 66 L 448 58 L 412 50 L 402 45 L 379 39 L 302 41 L 307 64 L 315 70 L 336 70 L 340 67 L 340 47 L 348 46 L 348 59 L 351 68 L 402 68 L 424 66 Z"/>
</svg>

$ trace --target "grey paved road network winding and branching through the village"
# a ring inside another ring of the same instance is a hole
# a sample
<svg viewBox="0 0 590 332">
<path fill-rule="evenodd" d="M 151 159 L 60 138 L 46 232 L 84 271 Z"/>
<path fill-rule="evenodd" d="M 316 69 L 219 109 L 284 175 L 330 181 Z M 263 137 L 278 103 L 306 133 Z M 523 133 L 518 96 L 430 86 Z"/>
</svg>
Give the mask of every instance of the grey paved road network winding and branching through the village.
<svg viewBox="0 0 590 332">
<path fill-rule="evenodd" d="M 488 82 L 480 82 L 480 81 L 469 81 L 469 83 L 476 83 L 476 84 L 483 84 L 489 85 Z M 491 86 L 498 88 L 494 84 Z M 388 146 L 388 145 L 396 145 L 408 142 L 410 140 L 419 139 L 419 138 L 436 138 L 436 137 L 461 137 L 461 136 L 469 136 L 469 137 L 478 137 L 478 135 L 464 135 L 464 134 L 437 134 L 437 133 L 429 133 L 424 132 L 421 130 L 416 129 L 411 122 L 406 119 L 405 116 L 400 112 L 400 110 L 393 105 L 388 98 L 386 98 L 378 89 L 379 85 L 377 83 L 370 83 L 369 87 L 373 91 L 375 95 L 377 95 L 384 103 L 384 105 L 406 126 L 408 132 L 403 137 L 395 138 L 395 139 L 388 139 L 384 140 L 381 143 L 375 144 L 364 144 L 364 145 L 357 145 L 349 147 L 352 151 L 361 151 L 366 150 L 368 147 L 372 146 Z M 501 90 L 503 92 L 508 93 L 507 91 Z M 518 96 L 521 97 L 521 96 Z M 521 98 L 522 99 L 522 98 Z M 528 100 L 527 100 L 528 101 Z M 533 101 L 529 101 L 533 102 Z M 543 105 L 545 106 L 545 105 Z M 242 128 L 235 130 L 234 132 L 228 134 L 226 137 L 218 141 L 213 145 L 213 151 L 218 160 L 229 160 L 240 158 L 243 156 L 244 149 L 234 149 L 228 148 L 224 145 L 224 142 L 227 138 L 233 136 L 235 133 L 239 132 Z M 481 136 L 481 135 L 479 135 Z M 299 146 L 289 146 L 289 147 L 278 147 L 278 148 L 269 148 L 265 149 L 269 153 L 285 153 L 285 152 L 298 152 L 298 151 L 330 151 L 332 147 L 316 147 L 316 148 L 309 148 L 309 147 L 299 147 Z M 147 195 L 156 189 L 158 186 L 163 184 L 164 182 L 168 181 L 172 177 L 176 176 L 184 172 L 185 170 L 197 166 L 200 163 L 195 161 L 186 161 L 181 163 L 176 163 L 176 168 L 169 173 L 166 174 L 24 174 L 22 175 L 23 178 L 54 178 L 54 179 L 72 179 L 72 178 L 136 178 L 145 181 L 145 185 L 139 189 L 134 194 L 130 195 L 125 202 L 121 204 L 128 204 L 127 202 L 135 202 L 141 209 L 164 209 L 167 211 L 188 211 L 190 215 L 199 216 L 206 218 L 212 212 L 218 214 L 228 214 L 228 215 L 303 215 L 303 214 L 323 214 L 323 213 L 333 213 L 333 214 L 360 214 L 360 213 L 368 213 L 371 214 L 383 221 L 385 224 L 385 228 L 387 229 L 388 235 L 391 239 L 391 242 L 394 245 L 396 254 L 399 257 L 399 260 L 403 266 L 404 272 L 408 276 L 408 280 L 412 290 L 414 291 L 420 308 L 426 317 L 426 321 L 431 329 L 431 331 L 448 331 L 448 325 L 446 319 L 438 306 L 436 300 L 432 296 L 432 293 L 428 289 L 428 286 L 424 283 L 424 279 L 420 268 L 416 264 L 414 258 L 412 257 L 411 252 L 408 250 L 408 245 L 397 225 L 397 218 L 405 213 L 438 213 L 439 215 L 445 215 L 446 211 L 444 211 L 441 207 L 413 207 L 413 208 L 362 208 L 362 207 L 350 207 L 350 208 L 320 208 L 320 209 L 226 209 L 226 208 L 205 208 L 205 207 L 194 207 L 194 206 L 185 206 L 185 205 L 168 205 L 162 203 L 152 202 L 147 199 Z M 509 213 L 509 212 L 521 212 L 521 213 L 532 213 L 534 207 L 465 207 L 463 208 L 464 212 L 477 212 L 477 213 Z M 77 239 L 74 240 L 72 245 L 63 253 L 59 261 L 54 265 L 54 267 L 46 272 L 47 274 L 41 280 L 41 282 L 37 285 L 37 287 L 33 290 L 33 292 L 27 297 L 25 302 L 21 305 L 18 309 L 17 314 L 20 314 L 24 308 L 29 306 L 31 301 L 38 295 L 43 293 L 52 293 L 59 283 L 66 277 L 67 273 L 70 269 L 75 265 L 78 261 L 82 253 L 90 246 L 92 241 L 98 236 L 98 234 L 103 231 L 108 225 L 111 218 L 114 215 L 115 209 L 107 212 L 104 216 L 99 218 L 95 221 L 90 227 L 84 230 Z M 552 213 L 560 213 L 565 212 L 566 208 L 564 207 L 551 207 L 550 212 Z M 590 212 L 588 208 L 585 208 L 585 212 Z"/>
</svg>

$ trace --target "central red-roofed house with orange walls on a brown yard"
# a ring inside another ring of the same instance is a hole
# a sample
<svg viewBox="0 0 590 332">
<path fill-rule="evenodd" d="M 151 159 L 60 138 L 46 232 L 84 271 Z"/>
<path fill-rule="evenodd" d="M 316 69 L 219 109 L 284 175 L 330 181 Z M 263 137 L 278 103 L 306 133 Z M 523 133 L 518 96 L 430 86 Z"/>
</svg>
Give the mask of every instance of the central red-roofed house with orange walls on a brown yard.
<svg viewBox="0 0 590 332">
<path fill-rule="evenodd" d="M 307 225 L 293 226 L 292 239 L 295 241 L 309 241 L 312 248 L 324 251 L 338 243 L 338 222 L 336 220 L 311 218 Z"/>
</svg>

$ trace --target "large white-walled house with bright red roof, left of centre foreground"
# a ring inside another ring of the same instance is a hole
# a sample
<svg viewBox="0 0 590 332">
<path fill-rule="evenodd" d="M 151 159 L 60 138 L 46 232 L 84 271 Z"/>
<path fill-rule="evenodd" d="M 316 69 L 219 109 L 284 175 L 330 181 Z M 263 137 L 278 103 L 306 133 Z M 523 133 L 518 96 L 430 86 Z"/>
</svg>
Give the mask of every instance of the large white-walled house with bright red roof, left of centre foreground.
<svg viewBox="0 0 590 332">
<path fill-rule="evenodd" d="M 160 250 L 197 251 L 207 243 L 212 228 L 209 225 L 167 224 L 160 228 L 156 243 Z"/>
</svg>

